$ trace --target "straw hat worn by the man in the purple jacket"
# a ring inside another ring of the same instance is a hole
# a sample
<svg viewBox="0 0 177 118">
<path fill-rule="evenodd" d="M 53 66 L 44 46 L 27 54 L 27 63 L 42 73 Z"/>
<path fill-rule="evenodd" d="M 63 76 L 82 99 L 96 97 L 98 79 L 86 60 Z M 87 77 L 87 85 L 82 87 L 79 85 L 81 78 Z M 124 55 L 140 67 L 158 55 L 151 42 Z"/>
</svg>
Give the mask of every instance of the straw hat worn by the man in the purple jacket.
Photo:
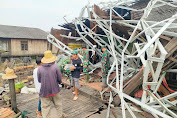
<svg viewBox="0 0 177 118">
<path fill-rule="evenodd" d="M 57 57 L 52 54 L 50 50 L 44 52 L 44 57 L 42 58 L 42 63 L 52 63 L 57 60 Z"/>
</svg>

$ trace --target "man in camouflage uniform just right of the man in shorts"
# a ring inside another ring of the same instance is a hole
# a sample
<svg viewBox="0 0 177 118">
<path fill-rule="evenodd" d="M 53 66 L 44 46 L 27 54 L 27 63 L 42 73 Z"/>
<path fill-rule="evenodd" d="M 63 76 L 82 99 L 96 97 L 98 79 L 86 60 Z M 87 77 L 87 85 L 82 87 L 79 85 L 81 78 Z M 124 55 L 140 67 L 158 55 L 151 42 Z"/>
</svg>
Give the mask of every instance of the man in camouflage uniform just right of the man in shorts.
<svg viewBox="0 0 177 118">
<path fill-rule="evenodd" d="M 83 55 L 83 72 L 85 75 L 85 82 L 89 81 L 89 73 L 88 73 L 88 65 L 89 65 L 89 53 L 85 46 L 82 47 L 82 55 Z"/>
</svg>

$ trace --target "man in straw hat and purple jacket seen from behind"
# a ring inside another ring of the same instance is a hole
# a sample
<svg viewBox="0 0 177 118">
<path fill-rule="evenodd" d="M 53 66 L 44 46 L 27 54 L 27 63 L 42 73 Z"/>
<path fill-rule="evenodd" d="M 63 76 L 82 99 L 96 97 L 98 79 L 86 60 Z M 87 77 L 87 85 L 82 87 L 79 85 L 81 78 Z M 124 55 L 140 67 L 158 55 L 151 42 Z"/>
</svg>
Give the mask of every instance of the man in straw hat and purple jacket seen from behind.
<svg viewBox="0 0 177 118">
<path fill-rule="evenodd" d="M 60 87 L 62 75 L 58 65 L 54 64 L 57 57 L 51 51 L 45 51 L 41 62 L 42 66 L 38 68 L 38 81 L 41 83 L 39 96 L 41 97 L 41 107 L 43 118 L 49 118 L 51 102 L 57 110 L 58 118 L 63 117 L 62 97 Z"/>
</svg>

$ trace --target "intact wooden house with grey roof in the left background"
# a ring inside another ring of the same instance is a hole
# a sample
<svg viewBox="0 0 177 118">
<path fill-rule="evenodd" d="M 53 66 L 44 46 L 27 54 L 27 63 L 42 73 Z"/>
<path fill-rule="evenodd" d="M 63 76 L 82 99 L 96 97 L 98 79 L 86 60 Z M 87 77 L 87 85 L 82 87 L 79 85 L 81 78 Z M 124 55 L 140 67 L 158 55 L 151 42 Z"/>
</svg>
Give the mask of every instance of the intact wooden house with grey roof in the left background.
<svg viewBox="0 0 177 118">
<path fill-rule="evenodd" d="M 56 53 L 57 49 L 48 43 L 47 35 L 38 28 L 0 25 L 0 50 L 7 51 L 1 57 L 42 56 L 47 49 Z"/>
</svg>

